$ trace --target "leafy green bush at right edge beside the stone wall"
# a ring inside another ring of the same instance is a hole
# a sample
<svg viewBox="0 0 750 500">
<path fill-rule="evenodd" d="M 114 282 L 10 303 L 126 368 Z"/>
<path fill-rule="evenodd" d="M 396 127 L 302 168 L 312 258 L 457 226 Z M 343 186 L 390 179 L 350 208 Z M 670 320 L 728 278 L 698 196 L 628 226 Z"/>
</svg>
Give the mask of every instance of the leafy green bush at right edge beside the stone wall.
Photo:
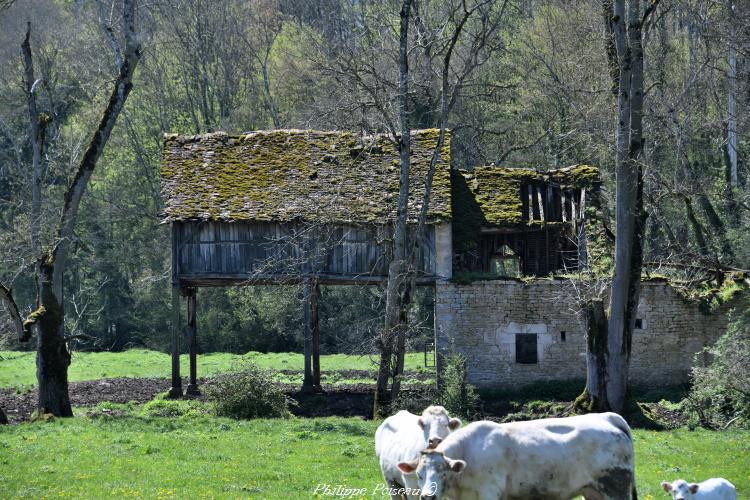
<svg viewBox="0 0 750 500">
<path fill-rule="evenodd" d="M 750 427 L 750 309 L 730 322 L 708 352 L 711 364 L 693 368 L 693 387 L 683 402 L 691 423 Z"/>
</svg>

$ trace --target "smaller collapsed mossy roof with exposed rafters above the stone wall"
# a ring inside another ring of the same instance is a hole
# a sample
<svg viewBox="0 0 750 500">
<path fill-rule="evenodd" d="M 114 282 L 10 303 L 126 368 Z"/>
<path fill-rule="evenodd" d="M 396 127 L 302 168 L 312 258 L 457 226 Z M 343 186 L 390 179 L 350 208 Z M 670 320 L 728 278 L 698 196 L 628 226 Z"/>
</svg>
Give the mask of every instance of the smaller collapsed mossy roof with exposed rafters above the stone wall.
<svg viewBox="0 0 750 500">
<path fill-rule="evenodd" d="M 590 165 L 539 172 L 529 168 L 477 167 L 453 175 L 453 218 L 480 225 L 511 226 L 523 220 L 522 184 L 556 184 L 561 188 L 592 188 L 600 184 L 599 169 Z"/>
</svg>

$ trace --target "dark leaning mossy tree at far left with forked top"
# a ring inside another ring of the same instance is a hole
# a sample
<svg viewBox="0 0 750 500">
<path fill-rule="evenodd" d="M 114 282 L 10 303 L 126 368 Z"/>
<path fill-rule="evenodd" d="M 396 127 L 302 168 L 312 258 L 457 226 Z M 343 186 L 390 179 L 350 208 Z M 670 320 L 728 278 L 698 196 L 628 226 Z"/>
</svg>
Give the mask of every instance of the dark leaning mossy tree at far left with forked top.
<svg viewBox="0 0 750 500">
<path fill-rule="evenodd" d="M 13 318 L 19 338 L 28 340 L 32 331 L 37 337 L 37 383 L 39 397 L 37 407 L 40 413 L 52 413 L 56 416 L 72 416 L 68 395 L 68 366 L 70 353 L 67 342 L 70 337 L 65 334 L 65 308 L 63 298 L 63 278 L 70 255 L 74 228 L 78 218 L 81 199 L 86 192 L 89 180 L 96 168 L 117 117 L 125 105 L 133 87 L 132 80 L 135 68 L 141 58 L 141 46 L 136 33 L 136 2 L 123 0 L 122 3 L 122 38 L 124 46 L 118 40 L 112 19 L 107 17 L 106 9 L 99 2 L 100 24 L 112 46 L 115 58 L 117 77 L 114 80 L 107 106 L 102 113 L 99 124 L 88 142 L 86 150 L 78 163 L 73 181 L 65 191 L 60 220 L 55 231 L 55 241 L 38 256 L 37 263 L 37 309 L 21 321 L 18 307 L 10 289 L 0 286 L 0 297 Z M 26 67 L 27 92 L 35 90 L 33 84 L 33 60 L 30 49 L 30 25 L 24 40 L 24 64 Z M 29 78 L 31 75 L 31 78 Z M 29 82 L 31 86 L 28 87 Z M 33 96 L 29 104 L 34 103 Z M 43 118 L 34 116 L 30 109 L 32 132 L 39 130 L 38 122 Z M 33 135 L 33 134 L 32 134 Z M 36 137 L 32 137 L 35 144 Z M 32 220 L 32 224 L 34 221 Z"/>
</svg>

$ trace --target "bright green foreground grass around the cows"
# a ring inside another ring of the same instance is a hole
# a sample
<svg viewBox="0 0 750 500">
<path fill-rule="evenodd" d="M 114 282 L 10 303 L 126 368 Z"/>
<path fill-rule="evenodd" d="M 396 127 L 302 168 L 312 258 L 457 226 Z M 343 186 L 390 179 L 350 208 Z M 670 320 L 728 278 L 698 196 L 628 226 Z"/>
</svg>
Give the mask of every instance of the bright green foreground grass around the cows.
<svg viewBox="0 0 750 500">
<path fill-rule="evenodd" d="M 367 488 L 366 498 L 378 498 L 370 495 L 380 483 L 372 438 L 378 422 L 148 414 L 101 405 L 96 416 L 0 427 L 0 496 L 310 498 L 328 483 Z M 722 476 L 738 498 L 750 494 L 750 432 L 634 436 L 641 498 L 662 498 L 659 483 L 678 477 Z"/>
</svg>

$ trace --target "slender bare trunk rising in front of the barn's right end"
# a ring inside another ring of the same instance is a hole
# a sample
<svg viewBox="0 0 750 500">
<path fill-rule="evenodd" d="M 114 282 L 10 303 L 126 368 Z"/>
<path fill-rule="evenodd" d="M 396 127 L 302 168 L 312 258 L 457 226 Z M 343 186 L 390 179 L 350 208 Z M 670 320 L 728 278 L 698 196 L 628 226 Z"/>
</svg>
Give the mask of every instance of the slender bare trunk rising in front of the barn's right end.
<svg viewBox="0 0 750 500">
<path fill-rule="evenodd" d="M 373 414 L 377 417 L 390 412 L 390 394 L 388 379 L 391 371 L 391 358 L 395 348 L 395 339 L 402 334 L 401 324 L 401 292 L 405 283 L 406 270 L 406 239 L 407 239 L 407 210 L 409 202 L 409 154 L 411 143 L 411 127 L 409 125 L 408 91 L 409 91 L 409 17 L 411 0 L 403 0 L 401 5 L 401 27 L 399 34 L 399 119 L 401 121 L 401 137 L 399 140 L 400 176 L 398 193 L 398 211 L 393 234 L 393 257 L 388 266 L 388 285 L 385 295 L 385 326 L 380 336 L 380 366 L 378 368 L 377 385 L 375 388 L 375 402 Z M 405 332 L 403 333 L 405 334 Z"/>
</svg>

